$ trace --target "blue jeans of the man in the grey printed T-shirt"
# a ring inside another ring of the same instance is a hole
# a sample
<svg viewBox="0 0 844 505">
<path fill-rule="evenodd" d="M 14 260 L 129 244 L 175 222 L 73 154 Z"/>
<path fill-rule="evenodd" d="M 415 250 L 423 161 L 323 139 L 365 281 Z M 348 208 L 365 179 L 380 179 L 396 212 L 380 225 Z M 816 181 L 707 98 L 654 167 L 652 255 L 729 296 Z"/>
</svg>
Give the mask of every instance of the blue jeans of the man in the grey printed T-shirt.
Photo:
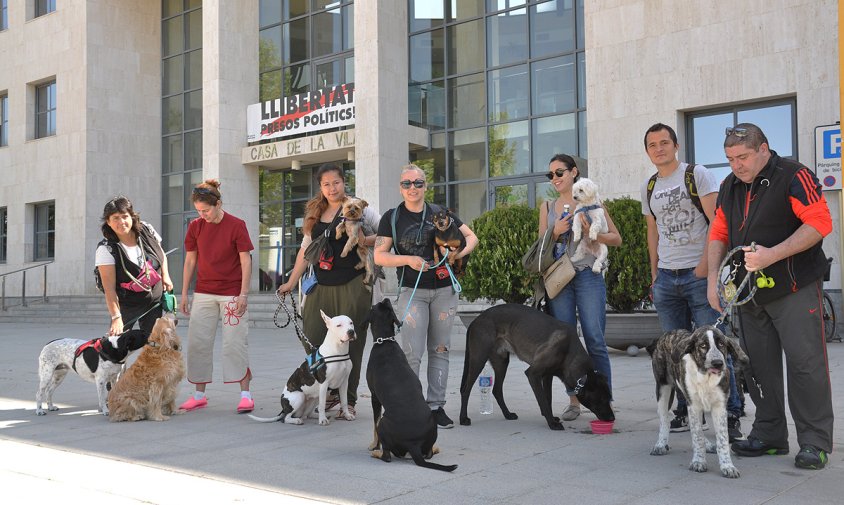
<svg viewBox="0 0 844 505">
<path fill-rule="evenodd" d="M 653 294 L 654 307 L 656 307 L 662 331 L 691 330 L 693 327 L 714 325 L 718 320 L 718 312 L 709 305 L 709 300 L 706 298 L 706 279 L 696 277 L 694 268 L 682 270 L 660 268 L 654 282 Z M 719 329 L 724 331 L 721 326 Z M 727 356 L 727 369 L 730 371 L 730 397 L 727 399 L 727 411 L 738 416 L 741 413 L 741 400 L 731 356 Z M 686 410 L 686 399 L 679 391 L 677 392 L 677 409 Z"/>
</svg>

